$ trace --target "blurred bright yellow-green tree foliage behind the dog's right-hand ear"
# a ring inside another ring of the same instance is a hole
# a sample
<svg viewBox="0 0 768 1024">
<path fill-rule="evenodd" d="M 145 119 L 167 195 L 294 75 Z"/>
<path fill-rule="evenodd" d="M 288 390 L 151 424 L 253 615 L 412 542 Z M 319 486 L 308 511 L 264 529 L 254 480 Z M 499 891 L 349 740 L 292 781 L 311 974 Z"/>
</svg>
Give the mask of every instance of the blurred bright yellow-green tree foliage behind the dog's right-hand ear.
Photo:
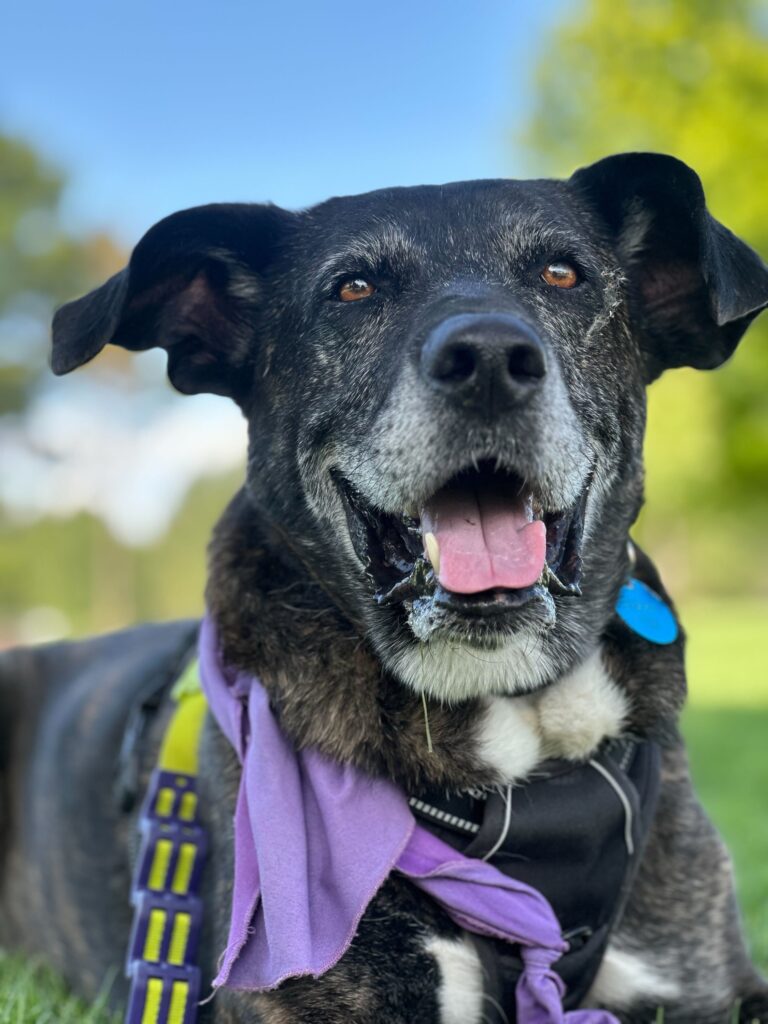
<svg viewBox="0 0 768 1024">
<path fill-rule="evenodd" d="M 672 153 L 710 208 L 768 254 L 768 27 L 762 0 L 584 0 L 539 65 L 524 136 L 535 170 L 608 153 Z M 648 508 L 639 538 L 678 587 L 768 591 L 768 317 L 715 377 L 650 389 Z"/>
</svg>

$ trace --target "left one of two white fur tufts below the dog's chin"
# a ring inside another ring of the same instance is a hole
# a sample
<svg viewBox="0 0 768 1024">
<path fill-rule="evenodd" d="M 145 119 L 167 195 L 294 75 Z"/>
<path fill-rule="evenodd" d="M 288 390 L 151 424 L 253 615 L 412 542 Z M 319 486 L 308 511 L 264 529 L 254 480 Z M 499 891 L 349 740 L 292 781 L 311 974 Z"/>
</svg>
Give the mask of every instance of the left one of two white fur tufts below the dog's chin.
<svg viewBox="0 0 768 1024">
<path fill-rule="evenodd" d="M 500 783 L 521 780 L 542 760 L 536 709 L 529 697 L 490 697 L 480 722 L 477 754 Z"/>
</svg>

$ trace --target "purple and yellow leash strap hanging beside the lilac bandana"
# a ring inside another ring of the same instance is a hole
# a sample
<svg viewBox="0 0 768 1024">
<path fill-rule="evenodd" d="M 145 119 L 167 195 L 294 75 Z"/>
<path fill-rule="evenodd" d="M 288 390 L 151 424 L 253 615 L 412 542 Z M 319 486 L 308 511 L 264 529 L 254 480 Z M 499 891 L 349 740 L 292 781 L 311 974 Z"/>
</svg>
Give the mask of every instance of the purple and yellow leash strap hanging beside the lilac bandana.
<svg viewBox="0 0 768 1024">
<path fill-rule="evenodd" d="M 206 713 L 194 659 L 172 690 L 175 708 L 139 818 L 131 903 L 125 1024 L 195 1024 L 207 837 L 198 818 L 198 744 Z"/>
</svg>

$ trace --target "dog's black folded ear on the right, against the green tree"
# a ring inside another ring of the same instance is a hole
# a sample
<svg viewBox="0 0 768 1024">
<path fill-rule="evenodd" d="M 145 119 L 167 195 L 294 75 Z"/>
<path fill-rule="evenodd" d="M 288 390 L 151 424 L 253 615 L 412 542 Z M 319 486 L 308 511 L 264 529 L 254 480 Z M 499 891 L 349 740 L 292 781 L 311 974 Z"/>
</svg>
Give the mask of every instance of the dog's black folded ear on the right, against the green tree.
<svg viewBox="0 0 768 1024">
<path fill-rule="evenodd" d="M 768 266 L 711 216 L 698 176 L 674 157 L 627 153 L 570 181 L 622 258 L 648 381 L 672 367 L 724 362 L 768 306 Z"/>
</svg>

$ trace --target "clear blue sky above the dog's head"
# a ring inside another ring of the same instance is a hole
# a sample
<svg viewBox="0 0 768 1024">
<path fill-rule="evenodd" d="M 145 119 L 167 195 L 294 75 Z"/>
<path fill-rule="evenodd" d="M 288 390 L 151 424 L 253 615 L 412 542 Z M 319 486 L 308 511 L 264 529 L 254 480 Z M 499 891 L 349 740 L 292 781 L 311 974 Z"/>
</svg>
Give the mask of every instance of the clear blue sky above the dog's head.
<svg viewBox="0 0 768 1024">
<path fill-rule="evenodd" d="M 524 174 L 513 136 L 564 0 L 27 0 L 0 130 L 71 175 L 69 222 L 134 242 L 214 200 Z"/>
</svg>

